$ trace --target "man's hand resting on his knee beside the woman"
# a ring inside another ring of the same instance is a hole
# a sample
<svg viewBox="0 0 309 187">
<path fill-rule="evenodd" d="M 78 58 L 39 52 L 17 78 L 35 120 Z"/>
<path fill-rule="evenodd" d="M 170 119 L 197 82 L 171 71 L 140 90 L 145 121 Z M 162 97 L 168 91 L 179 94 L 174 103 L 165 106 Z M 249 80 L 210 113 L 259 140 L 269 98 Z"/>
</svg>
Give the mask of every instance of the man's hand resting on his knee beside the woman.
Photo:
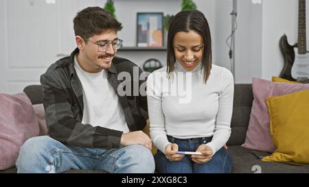
<svg viewBox="0 0 309 187">
<path fill-rule="evenodd" d="M 147 136 L 147 134 L 145 134 L 144 132 L 135 131 L 135 132 L 128 132 L 128 133 L 122 134 L 120 145 L 128 146 L 128 145 L 137 145 L 137 144 L 144 145 L 151 151 L 152 142 L 149 136 Z"/>
</svg>

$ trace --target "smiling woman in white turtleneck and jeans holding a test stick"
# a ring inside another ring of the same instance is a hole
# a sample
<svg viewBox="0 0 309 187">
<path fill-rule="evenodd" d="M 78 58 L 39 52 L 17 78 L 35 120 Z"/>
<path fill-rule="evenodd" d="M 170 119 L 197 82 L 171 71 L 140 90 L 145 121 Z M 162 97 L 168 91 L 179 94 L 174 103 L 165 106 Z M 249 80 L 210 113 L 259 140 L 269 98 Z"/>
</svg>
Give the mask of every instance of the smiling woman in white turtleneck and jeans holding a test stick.
<svg viewBox="0 0 309 187">
<path fill-rule="evenodd" d="M 211 64 L 211 36 L 203 13 L 174 16 L 167 61 L 147 82 L 150 136 L 159 149 L 157 171 L 231 173 L 231 156 L 222 147 L 231 134 L 233 75 Z"/>
</svg>

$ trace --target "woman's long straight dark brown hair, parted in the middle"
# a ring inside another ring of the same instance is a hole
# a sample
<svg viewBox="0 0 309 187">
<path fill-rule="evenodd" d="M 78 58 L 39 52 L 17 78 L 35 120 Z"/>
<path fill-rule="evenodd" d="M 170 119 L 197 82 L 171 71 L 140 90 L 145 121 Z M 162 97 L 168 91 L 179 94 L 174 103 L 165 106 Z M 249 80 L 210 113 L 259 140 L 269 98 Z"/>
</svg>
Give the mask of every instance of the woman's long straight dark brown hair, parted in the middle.
<svg viewBox="0 0 309 187">
<path fill-rule="evenodd" d="M 168 29 L 168 76 L 170 77 L 170 73 L 174 71 L 174 64 L 176 62 L 173 46 L 174 36 L 177 32 L 190 32 L 190 30 L 194 30 L 203 38 L 204 51 L 201 63 L 203 66 L 202 69 L 204 69 L 204 82 L 206 83 L 212 64 L 211 36 L 207 19 L 204 14 L 198 10 L 181 11 L 176 14 L 170 22 L 170 29 Z"/>
</svg>

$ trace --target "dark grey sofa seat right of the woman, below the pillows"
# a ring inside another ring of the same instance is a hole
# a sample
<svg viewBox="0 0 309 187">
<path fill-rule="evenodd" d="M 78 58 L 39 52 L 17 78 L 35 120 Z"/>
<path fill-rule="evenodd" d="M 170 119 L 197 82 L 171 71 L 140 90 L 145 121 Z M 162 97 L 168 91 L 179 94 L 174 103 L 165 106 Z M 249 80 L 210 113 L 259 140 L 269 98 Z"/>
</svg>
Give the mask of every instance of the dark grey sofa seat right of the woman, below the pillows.
<svg viewBox="0 0 309 187">
<path fill-rule="evenodd" d="M 295 166 L 279 162 L 262 162 L 253 153 L 239 145 L 230 146 L 227 152 L 233 159 L 232 173 L 309 173 L 309 165 Z"/>
</svg>

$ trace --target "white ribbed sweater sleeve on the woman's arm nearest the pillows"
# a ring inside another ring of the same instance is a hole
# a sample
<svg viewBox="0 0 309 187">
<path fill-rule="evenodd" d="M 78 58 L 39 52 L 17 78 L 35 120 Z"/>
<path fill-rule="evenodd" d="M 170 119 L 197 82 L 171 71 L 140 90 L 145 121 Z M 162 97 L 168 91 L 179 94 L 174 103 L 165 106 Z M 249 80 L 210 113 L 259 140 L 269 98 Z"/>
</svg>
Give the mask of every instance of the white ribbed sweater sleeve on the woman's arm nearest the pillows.
<svg viewBox="0 0 309 187">
<path fill-rule="evenodd" d="M 230 126 L 233 112 L 234 82 L 233 75 L 227 69 L 222 71 L 221 82 L 222 89 L 218 96 L 219 108 L 216 116 L 214 137 L 211 142 L 207 143 L 214 151 L 214 154 L 226 144 L 229 136 L 231 136 Z"/>
</svg>

